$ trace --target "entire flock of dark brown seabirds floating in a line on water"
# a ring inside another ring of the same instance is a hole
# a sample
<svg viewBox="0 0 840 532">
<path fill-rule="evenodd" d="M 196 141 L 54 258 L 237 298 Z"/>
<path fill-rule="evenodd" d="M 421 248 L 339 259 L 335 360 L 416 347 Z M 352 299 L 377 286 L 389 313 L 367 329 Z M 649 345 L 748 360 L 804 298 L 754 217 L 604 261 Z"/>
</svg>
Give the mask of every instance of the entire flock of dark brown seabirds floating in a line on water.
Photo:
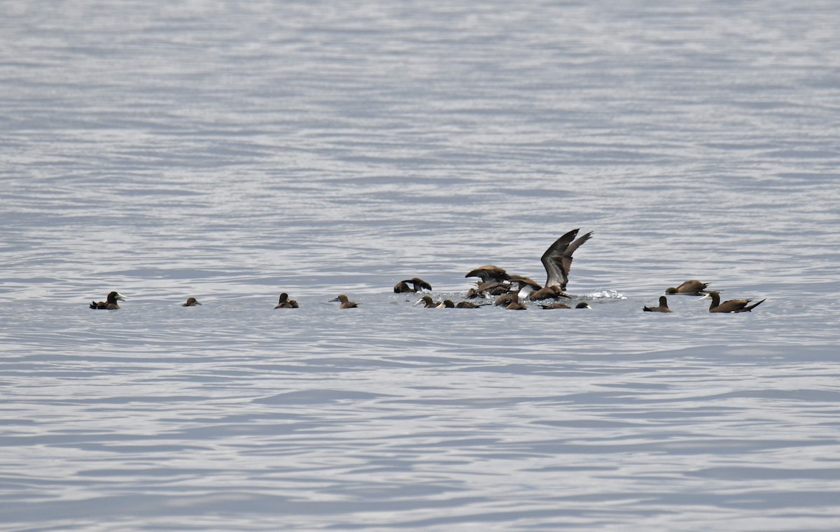
<svg viewBox="0 0 840 532">
<path fill-rule="evenodd" d="M 465 277 L 477 277 L 480 279 L 474 288 L 470 288 L 465 296 L 465 300 L 454 303 L 452 300 L 435 301 L 430 295 L 423 295 L 423 297 L 415 303 L 415 305 L 423 304 L 426 308 L 457 308 L 457 309 L 474 309 L 485 305 L 503 306 L 507 310 L 525 310 L 528 308 L 526 301 L 537 302 L 537 305 L 543 309 L 570 309 L 563 300 L 569 300 L 570 295 L 566 294 L 566 284 L 569 283 L 569 270 L 572 264 L 572 253 L 575 253 L 580 245 L 585 243 L 592 236 L 592 232 L 587 232 L 578 237 L 577 234 L 580 229 L 573 229 L 565 233 L 554 241 L 551 246 L 545 250 L 540 260 L 545 267 L 547 275 L 545 285 L 541 286 L 533 279 L 522 277 L 522 275 L 507 274 L 504 269 L 487 264 L 479 266 L 470 271 Z M 705 295 L 701 299 L 711 300 L 709 312 L 749 312 L 755 307 L 764 303 L 760 300 L 758 303 L 750 305 L 752 300 L 727 300 L 721 302 L 721 295 L 715 290 L 706 290 L 708 283 L 701 283 L 698 280 L 691 279 L 685 281 L 677 287 L 665 289 L 665 294 L 668 295 Z M 423 279 L 414 277 L 400 281 L 394 286 L 394 292 L 402 293 L 417 293 L 423 290 L 431 290 L 432 285 L 428 284 Z M 116 291 L 108 294 L 105 301 L 92 301 L 90 307 L 92 309 L 101 310 L 118 310 L 119 300 L 127 300 L 128 298 L 119 294 Z M 491 300 L 492 299 L 492 303 Z M 482 302 L 475 303 L 469 300 L 480 300 Z M 344 294 L 339 295 L 333 301 L 339 302 L 341 309 L 353 309 L 358 307 L 356 303 L 350 301 Z M 196 306 L 201 303 L 196 298 L 191 297 L 186 300 L 181 306 Z M 285 292 L 280 295 L 280 300 L 274 307 L 276 309 L 297 309 L 297 301 L 290 300 L 289 295 Z M 580 302 L 575 305 L 576 309 L 591 308 L 585 302 Z M 662 295 L 659 297 L 659 306 L 643 306 L 642 310 L 647 312 L 671 312 L 668 307 L 668 299 Z"/>
</svg>

